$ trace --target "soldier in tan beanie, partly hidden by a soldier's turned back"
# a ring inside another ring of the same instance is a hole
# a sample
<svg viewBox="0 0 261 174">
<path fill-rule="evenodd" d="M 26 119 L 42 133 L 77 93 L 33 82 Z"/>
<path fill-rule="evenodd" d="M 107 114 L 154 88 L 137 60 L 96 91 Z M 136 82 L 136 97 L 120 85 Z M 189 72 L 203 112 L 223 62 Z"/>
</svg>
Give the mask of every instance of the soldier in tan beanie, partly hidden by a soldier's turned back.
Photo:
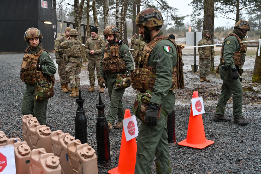
<svg viewBox="0 0 261 174">
<path fill-rule="evenodd" d="M 65 33 L 63 35 L 60 35 L 59 37 L 57 37 L 55 39 L 55 43 L 54 43 L 55 57 L 56 57 L 56 63 L 58 64 L 58 74 L 60 76 L 60 84 L 62 87 L 62 92 L 72 91 L 68 87 L 69 80 L 68 80 L 68 76 L 65 71 L 65 66 L 66 66 L 67 62 L 63 58 L 64 50 L 61 49 L 59 46 L 63 41 L 65 41 L 69 37 L 69 33 L 70 33 L 71 29 L 72 28 L 67 27 L 65 29 Z"/>
</svg>

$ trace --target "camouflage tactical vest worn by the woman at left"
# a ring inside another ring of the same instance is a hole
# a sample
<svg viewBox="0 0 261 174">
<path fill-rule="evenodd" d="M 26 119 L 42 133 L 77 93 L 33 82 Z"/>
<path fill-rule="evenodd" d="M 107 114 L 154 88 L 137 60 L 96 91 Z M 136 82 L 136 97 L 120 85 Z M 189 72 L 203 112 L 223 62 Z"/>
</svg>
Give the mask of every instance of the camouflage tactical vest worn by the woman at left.
<svg viewBox="0 0 261 174">
<path fill-rule="evenodd" d="M 20 79 L 22 82 L 34 85 L 36 82 L 49 81 L 54 85 L 54 75 L 47 75 L 36 68 L 38 58 L 45 51 L 39 47 L 34 53 L 30 54 L 31 47 L 27 47 L 25 55 L 23 56 L 22 68 L 20 70 Z M 47 52 L 47 51 L 46 51 Z"/>
</svg>

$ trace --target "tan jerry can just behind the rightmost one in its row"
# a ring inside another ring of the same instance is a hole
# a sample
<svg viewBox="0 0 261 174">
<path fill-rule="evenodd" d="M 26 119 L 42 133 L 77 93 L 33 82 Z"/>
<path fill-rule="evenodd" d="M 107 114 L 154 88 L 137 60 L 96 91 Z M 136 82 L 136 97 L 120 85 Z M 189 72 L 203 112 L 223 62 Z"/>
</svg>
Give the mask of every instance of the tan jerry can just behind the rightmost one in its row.
<svg viewBox="0 0 261 174">
<path fill-rule="evenodd" d="M 67 155 L 67 144 L 70 141 L 75 140 L 69 133 L 63 133 L 61 130 L 53 131 L 50 135 L 52 152 L 55 156 L 60 158 L 62 174 L 70 173 L 70 164 Z"/>
</svg>

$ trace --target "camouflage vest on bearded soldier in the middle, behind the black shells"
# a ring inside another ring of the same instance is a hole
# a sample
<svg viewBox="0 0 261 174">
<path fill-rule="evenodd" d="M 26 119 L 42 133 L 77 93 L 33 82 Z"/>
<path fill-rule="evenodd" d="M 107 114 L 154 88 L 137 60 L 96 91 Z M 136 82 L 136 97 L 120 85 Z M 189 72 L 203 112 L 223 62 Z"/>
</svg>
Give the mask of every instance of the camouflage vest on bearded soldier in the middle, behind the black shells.
<svg viewBox="0 0 261 174">
<path fill-rule="evenodd" d="M 115 74 L 126 71 L 126 63 L 119 55 L 119 50 L 122 43 L 116 41 L 113 45 L 109 45 L 108 43 L 105 46 L 102 69 L 106 74 Z"/>
</svg>

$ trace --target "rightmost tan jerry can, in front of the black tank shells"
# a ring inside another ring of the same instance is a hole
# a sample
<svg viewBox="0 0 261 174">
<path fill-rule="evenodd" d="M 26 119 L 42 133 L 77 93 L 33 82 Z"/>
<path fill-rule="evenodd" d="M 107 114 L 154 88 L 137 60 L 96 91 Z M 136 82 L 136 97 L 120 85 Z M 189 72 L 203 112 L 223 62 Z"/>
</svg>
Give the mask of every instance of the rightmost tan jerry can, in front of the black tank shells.
<svg viewBox="0 0 261 174">
<path fill-rule="evenodd" d="M 73 140 L 67 145 L 70 172 L 78 174 L 98 174 L 97 156 L 94 149 L 80 140 Z"/>
</svg>

